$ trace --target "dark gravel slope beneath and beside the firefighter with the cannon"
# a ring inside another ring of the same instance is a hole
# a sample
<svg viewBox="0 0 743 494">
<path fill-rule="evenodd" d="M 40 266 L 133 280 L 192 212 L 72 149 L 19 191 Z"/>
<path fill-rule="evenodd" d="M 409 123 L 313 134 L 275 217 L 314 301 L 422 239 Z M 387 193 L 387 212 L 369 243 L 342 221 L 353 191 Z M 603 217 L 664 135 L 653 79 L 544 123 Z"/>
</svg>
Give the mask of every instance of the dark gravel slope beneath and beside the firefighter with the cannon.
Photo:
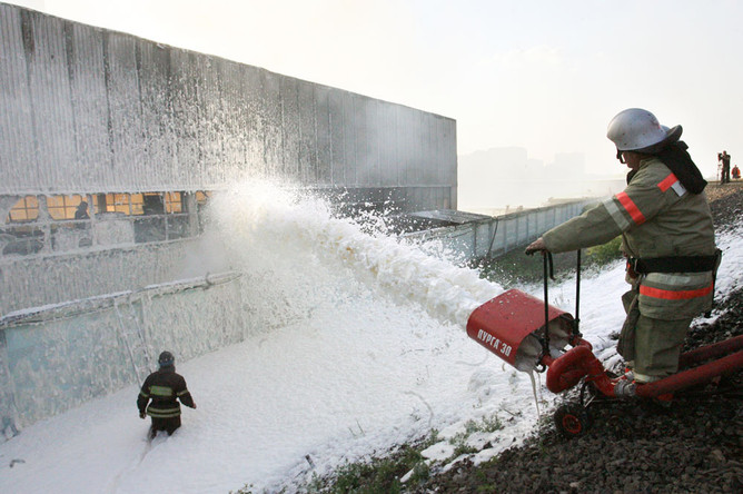
<svg viewBox="0 0 743 494">
<path fill-rule="evenodd" d="M 740 220 L 743 184 L 706 190 L 719 230 Z M 743 288 L 719 298 L 723 315 L 693 327 L 686 349 L 743 334 Z M 545 421 L 525 445 L 477 466 L 460 462 L 408 492 L 743 493 L 743 373 L 723 379 L 731 383 L 729 394 L 677 395 L 671 407 L 592 405 L 591 428 L 572 439 Z"/>
</svg>

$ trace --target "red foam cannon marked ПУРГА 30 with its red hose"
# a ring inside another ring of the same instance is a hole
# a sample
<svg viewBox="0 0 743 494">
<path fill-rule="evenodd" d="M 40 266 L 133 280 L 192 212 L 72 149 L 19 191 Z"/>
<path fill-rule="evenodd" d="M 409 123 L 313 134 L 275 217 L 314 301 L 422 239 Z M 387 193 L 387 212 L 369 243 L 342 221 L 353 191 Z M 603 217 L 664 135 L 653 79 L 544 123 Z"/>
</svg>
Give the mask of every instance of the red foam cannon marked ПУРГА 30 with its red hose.
<svg viewBox="0 0 743 494">
<path fill-rule="evenodd" d="M 737 336 L 683 354 L 677 374 L 633 385 L 628 395 L 618 396 L 617 379 L 605 372 L 591 344 L 573 327 L 573 316 L 568 313 L 511 289 L 472 313 L 467 335 L 519 370 L 546 368 L 546 385 L 552 393 L 571 389 L 585 378 L 607 397 L 650 398 L 743 368 L 743 336 Z M 573 348 L 565 349 L 567 345 Z"/>
</svg>

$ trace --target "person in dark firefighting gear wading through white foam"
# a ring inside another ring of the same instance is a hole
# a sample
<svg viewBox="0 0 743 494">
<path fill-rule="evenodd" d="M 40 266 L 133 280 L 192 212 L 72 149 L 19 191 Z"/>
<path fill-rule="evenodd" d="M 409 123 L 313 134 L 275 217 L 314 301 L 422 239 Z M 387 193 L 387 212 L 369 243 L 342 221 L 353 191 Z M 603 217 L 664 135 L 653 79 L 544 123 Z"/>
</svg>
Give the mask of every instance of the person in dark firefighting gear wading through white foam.
<svg viewBox="0 0 743 494">
<path fill-rule="evenodd" d="M 145 418 L 149 415 L 152 419 L 150 438 L 153 438 L 158 431 L 166 431 L 171 435 L 180 427 L 179 399 L 184 405 L 196 408 L 194 398 L 186 387 L 186 379 L 176 373 L 174 355 L 170 352 L 162 352 L 158 365 L 160 368 L 147 376 L 137 397 L 139 417 Z"/>
</svg>

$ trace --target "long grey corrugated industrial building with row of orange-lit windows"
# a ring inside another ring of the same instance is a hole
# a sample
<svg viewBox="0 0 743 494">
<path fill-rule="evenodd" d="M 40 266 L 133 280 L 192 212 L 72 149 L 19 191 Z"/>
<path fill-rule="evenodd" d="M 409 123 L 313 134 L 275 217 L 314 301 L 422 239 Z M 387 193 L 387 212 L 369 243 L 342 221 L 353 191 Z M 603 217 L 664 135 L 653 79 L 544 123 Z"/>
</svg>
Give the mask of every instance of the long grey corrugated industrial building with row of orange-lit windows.
<svg viewBox="0 0 743 494">
<path fill-rule="evenodd" d="M 239 180 L 456 208 L 453 119 L 2 3 L 0 50 L 2 314 L 168 280 Z"/>
</svg>

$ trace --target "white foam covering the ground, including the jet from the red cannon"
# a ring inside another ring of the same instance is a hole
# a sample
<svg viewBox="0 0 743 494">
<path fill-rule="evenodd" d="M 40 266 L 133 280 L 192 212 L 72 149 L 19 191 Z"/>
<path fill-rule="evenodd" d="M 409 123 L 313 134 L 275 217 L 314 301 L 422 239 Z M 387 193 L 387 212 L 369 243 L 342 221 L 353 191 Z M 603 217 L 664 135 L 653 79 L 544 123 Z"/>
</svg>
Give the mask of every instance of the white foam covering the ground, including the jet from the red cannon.
<svg viewBox="0 0 743 494">
<path fill-rule="evenodd" d="M 502 287 L 269 184 L 235 187 L 214 199 L 212 214 L 208 238 L 250 277 L 256 299 L 246 310 L 266 328 L 178 364 L 198 409 L 185 408 L 172 437 L 147 444 L 130 386 L 0 444 L 0 492 L 227 493 L 246 484 L 291 492 L 313 473 L 432 428 L 442 441 L 426 454 L 443 460 L 468 421 L 497 416 L 502 431 L 467 439 L 494 446 L 476 461 L 532 429 L 529 376 L 464 329 Z M 743 276 L 741 230 L 719 238 L 721 289 Z M 542 287 L 527 289 L 542 297 Z M 582 284 L 582 330 L 607 365 L 617 360 L 608 334 L 624 318 L 625 289 L 621 263 Z M 574 313 L 574 281 L 551 287 L 549 298 Z M 546 391 L 541 398 L 555 399 Z"/>
</svg>

